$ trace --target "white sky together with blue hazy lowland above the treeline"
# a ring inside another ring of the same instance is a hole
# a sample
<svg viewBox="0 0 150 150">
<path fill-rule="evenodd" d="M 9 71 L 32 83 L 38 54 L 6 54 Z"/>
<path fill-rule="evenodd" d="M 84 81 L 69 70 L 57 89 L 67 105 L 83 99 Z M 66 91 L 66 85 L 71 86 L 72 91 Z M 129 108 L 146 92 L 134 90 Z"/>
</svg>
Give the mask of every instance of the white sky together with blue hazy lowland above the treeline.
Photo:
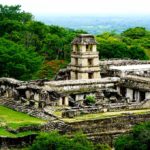
<svg viewBox="0 0 150 150">
<path fill-rule="evenodd" d="M 121 33 L 136 26 L 150 29 L 149 0 L 0 0 L 0 4 L 21 5 L 37 21 L 92 34 Z"/>
</svg>

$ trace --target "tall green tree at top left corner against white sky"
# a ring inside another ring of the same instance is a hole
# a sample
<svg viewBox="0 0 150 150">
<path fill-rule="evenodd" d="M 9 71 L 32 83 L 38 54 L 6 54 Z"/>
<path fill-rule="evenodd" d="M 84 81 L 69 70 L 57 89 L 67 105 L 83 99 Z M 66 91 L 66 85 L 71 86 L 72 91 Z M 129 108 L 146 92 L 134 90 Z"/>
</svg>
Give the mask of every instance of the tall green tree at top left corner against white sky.
<svg viewBox="0 0 150 150">
<path fill-rule="evenodd" d="M 21 11 L 20 5 L 7 6 L 0 4 L 0 36 L 13 31 L 25 30 L 25 24 L 32 20 L 32 14 Z"/>
</svg>

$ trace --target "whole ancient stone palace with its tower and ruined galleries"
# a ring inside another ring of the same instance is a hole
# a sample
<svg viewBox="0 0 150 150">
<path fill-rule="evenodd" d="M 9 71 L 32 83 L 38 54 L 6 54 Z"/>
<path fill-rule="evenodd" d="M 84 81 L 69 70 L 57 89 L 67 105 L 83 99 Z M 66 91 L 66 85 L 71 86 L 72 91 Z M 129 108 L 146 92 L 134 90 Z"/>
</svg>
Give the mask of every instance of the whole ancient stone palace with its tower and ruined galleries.
<svg viewBox="0 0 150 150">
<path fill-rule="evenodd" d="M 92 95 L 94 105 L 107 111 L 150 108 L 150 61 L 100 61 L 97 42 L 89 34 L 77 36 L 71 44 L 71 62 L 54 81 L 0 78 L 1 99 L 43 110 L 84 107 L 86 97 Z"/>
</svg>

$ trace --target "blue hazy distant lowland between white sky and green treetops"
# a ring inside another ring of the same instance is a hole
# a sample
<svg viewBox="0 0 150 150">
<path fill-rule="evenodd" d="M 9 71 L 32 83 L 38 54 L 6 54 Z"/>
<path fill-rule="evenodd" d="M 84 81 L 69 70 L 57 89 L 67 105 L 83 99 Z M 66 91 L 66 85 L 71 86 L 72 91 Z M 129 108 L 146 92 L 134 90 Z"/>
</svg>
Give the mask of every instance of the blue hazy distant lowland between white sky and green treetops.
<svg viewBox="0 0 150 150">
<path fill-rule="evenodd" d="M 59 25 L 72 29 L 83 29 L 91 34 L 122 31 L 133 27 L 145 27 L 150 30 L 150 16 L 37 16 L 37 20 L 48 25 Z"/>
</svg>

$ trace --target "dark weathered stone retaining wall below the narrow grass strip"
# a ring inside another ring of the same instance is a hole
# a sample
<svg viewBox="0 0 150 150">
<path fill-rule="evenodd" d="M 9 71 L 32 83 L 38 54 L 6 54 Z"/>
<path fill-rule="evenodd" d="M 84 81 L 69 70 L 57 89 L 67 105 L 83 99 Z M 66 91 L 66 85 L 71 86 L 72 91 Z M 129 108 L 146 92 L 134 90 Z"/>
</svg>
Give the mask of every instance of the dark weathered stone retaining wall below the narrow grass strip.
<svg viewBox="0 0 150 150">
<path fill-rule="evenodd" d="M 70 128 L 66 130 L 66 133 L 73 134 L 76 131 L 83 131 L 92 141 L 112 146 L 113 140 L 118 135 L 130 132 L 134 125 L 145 121 L 150 121 L 150 113 L 72 122 L 68 123 Z"/>
</svg>

